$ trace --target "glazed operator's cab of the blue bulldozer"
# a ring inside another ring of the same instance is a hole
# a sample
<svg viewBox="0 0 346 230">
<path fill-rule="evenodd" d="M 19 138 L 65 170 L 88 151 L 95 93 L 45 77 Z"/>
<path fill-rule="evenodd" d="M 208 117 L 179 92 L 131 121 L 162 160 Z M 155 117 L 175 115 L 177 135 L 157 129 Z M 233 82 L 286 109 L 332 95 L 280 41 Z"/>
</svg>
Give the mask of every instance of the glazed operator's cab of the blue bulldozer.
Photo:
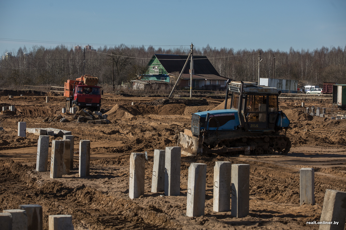
<svg viewBox="0 0 346 230">
<path fill-rule="evenodd" d="M 276 90 L 276 89 L 275 89 Z M 277 91 L 266 87 L 244 87 L 232 93 L 231 108 L 238 110 L 240 124 L 249 131 L 273 131 L 279 114 Z M 242 98 L 239 105 L 239 97 Z"/>
</svg>

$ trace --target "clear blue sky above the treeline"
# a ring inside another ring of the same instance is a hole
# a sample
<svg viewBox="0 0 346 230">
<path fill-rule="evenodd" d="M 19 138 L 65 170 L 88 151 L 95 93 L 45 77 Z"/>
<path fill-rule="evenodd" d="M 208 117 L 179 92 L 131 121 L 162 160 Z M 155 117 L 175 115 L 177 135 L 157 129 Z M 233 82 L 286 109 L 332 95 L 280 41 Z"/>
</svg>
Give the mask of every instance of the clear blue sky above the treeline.
<svg viewBox="0 0 346 230">
<path fill-rule="evenodd" d="M 192 42 L 235 51 L 346 45 L 345 0 L 0 0 L 0 9 L 0 55 L 59 44 L 168 49 Z"/>
</svg>

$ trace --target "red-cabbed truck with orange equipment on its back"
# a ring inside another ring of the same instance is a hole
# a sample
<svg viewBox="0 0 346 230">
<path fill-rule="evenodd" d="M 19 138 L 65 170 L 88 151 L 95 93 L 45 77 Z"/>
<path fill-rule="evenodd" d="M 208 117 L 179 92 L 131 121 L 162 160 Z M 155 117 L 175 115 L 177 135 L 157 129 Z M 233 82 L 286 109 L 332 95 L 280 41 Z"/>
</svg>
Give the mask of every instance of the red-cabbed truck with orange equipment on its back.
<svg viewBox="0 0 346 230">
<path fill-rule="evenodd" d="M 100 111 L 101 90 L 97 86 L 98 78 L 91 75 L 83 75 L 75 80 L 67 80 L 64 87 L 66 97 L 66 109 L 76 107 L 77 111 L 88 108 L 91 111 Z"/>
</svg>

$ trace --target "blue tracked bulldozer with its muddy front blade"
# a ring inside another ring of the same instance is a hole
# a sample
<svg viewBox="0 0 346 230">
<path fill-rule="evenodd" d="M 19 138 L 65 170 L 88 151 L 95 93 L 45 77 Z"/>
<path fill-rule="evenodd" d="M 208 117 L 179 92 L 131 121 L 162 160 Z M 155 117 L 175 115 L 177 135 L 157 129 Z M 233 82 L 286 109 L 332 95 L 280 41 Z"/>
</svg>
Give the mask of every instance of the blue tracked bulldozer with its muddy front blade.
<svg viewBox="0 0 346 230">
<path fill-rule="evenodd" d="M 191 129 L 179 132 L 182 154 L 287 154 L 290 121 L 279 111 L 281 92 L 253 82 L 227 85 L 224 109 L 192 114 Z"/>
</svg>

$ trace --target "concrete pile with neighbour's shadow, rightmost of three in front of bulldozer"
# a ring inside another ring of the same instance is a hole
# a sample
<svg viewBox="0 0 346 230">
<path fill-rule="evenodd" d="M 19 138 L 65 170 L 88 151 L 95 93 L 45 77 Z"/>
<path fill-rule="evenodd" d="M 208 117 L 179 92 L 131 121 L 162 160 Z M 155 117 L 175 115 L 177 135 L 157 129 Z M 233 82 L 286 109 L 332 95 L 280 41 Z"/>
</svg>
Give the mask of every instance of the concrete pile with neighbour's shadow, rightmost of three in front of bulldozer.
<svg viewBox="0 0 346 230">
<path fill-rule="evenodd" d="M 249 214 L 250 165 L 233 164 L 231 172 L 231 215 L 242 218 Z"/>
</svg>

